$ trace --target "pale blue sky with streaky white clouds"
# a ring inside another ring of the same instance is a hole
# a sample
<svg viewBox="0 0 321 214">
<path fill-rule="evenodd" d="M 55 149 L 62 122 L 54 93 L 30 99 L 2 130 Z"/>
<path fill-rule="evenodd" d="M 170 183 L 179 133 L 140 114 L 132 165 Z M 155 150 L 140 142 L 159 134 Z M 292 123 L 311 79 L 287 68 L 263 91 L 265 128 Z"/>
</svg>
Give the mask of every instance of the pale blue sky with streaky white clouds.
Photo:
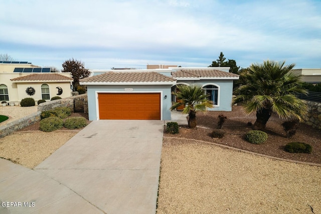
<svg viewBox="0 0 321 214">
<path fill-rule="evenodd" d="M 0 2 L 0 54 L 43 67 L 207 67 L 223 52 L 243 68 L 321 68 L 321 0 Z"/>
</svg>

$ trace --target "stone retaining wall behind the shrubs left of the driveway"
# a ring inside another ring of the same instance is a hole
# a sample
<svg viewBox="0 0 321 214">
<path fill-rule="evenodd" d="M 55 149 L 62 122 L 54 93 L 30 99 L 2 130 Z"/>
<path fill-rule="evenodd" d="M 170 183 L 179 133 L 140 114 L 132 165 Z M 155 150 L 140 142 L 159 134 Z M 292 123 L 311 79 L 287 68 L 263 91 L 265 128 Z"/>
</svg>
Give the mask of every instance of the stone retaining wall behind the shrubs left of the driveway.
<svg viewBox="0 0 321 214">
<path fill-rule="evenodd" d="M 40 115 L 44 111 L 48 111 L 56 107 L 69 107 L 72 110 L 74 110 L 75 98 L 84 98 L 84 112 L 88 113 L 87 94 L 81 94 L 81 95 L 71 96 L 63 99 L 56 99 L 52 101 L 43 102 L 38 105 L 38 112 L 0 127 L 0 138 L 5 137 L 6 135 L 9 135 L 17 130 L 23 129 L 29 125 L 32 125 L 37 121 L 40 121 Z"/>
</svg>

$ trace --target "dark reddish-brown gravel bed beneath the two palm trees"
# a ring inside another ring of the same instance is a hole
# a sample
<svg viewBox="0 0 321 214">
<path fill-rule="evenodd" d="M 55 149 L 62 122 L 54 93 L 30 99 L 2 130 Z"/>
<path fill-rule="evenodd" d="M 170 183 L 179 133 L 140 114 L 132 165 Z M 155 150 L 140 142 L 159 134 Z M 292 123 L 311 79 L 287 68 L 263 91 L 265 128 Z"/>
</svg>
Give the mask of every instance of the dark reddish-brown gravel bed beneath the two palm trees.
<svg viewBox="0 0 321 214">
<path fill-rule="evenodd" d="M 221 114 L 227 117 L 222 129 L 222 131 L 225 132 L 225 136 L 222 139 L 212 138 L 211 133 L 217 128 L 218 116 Z M 244 139 L 244 135 L 252 130 L 252 126 L 247 126 L 247 123 L 251 122 L 254 124 L 255 120 L 255 115 L 244 115 L 242 106 L 233 106 L 232 112 L 208 112 L 205 115 L 198 113 L 197 129 L 188 129 L 187 126 L 180 126 L 179 134 L 172 135 L 165 133 L 164 136 L 203 140 L 263 155 L 321 164 L 321 130 L 300 123 L 292 139 L 287 139 L 286 133 L 281 126 L 285 120 L 272 115 L 266 124 L 265 132 L 268 134 L 267 141 L 263 144 L 256 145 Z M 312 153 L 285 152 L 284 147 L 290 142 L 310 144 L 312 146 Z"/>
</svg>

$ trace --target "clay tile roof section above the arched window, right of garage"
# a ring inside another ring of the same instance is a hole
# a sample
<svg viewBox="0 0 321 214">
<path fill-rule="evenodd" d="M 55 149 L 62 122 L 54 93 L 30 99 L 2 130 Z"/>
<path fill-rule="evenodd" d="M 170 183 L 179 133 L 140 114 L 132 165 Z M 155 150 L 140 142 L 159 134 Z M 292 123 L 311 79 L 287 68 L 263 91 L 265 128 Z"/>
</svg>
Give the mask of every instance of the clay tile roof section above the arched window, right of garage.
<svg viewBox="0 0 321 214">
<path fill-rule="evenodd" d="M 229 73 L 225 71 L 220 71 L 216 69 L 183 69 L 179 71 L 175 71 L 172 73 L 174 78 L 201 78 L 201 77 L 209 77 L 209 78 L 229 78 L 229 77 L 238 77 L 239 75 L 234 73 Z"/>
</svg>

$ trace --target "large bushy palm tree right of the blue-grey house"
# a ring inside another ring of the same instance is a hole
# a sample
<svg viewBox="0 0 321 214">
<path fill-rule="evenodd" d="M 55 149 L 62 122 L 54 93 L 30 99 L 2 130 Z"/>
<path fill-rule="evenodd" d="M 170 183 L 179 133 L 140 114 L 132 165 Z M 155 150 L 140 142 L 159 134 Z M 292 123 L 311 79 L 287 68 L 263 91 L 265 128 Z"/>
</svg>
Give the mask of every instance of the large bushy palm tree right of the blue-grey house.
<svg viewBox="0 0 321 214">
<path fill-rule="evenodd" d="M 285 61 L 264 61 L 252 64 L 243 78 L 245 84 L 237 88 L 233 104 L 244 102 L 247 115 L 256 113 L 254 129 L 264 130 L 272 113 L 280 118 L 301 120 L 307 108 L 295 93 L 306 93 L 301 87 L 300 76 L 289 72 L 295 64 L 284 65 Z"/>
</svg>

